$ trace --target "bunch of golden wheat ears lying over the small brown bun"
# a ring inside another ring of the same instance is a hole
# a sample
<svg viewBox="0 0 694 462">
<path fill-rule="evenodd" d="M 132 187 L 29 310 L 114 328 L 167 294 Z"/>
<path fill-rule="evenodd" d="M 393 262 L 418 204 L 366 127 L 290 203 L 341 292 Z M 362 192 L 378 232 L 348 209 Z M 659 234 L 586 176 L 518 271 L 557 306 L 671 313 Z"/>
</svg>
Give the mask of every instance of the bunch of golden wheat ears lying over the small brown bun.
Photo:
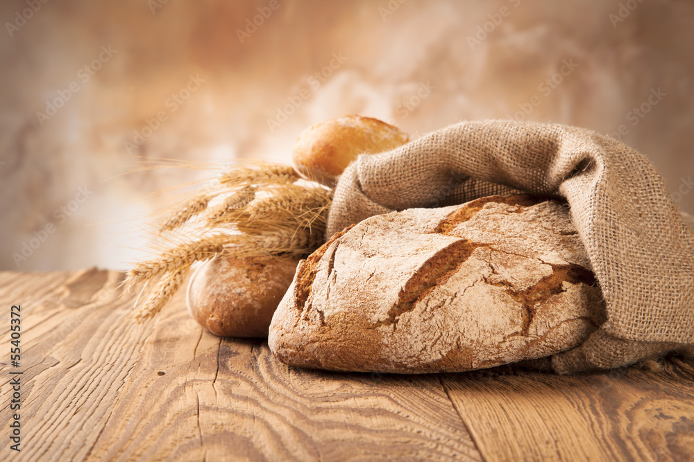
<svg viewBox="0 0 694 462">
<path fill-rule="evenodd" d="M 293 168 L 280 164 L 228 168 L 217 186 L 174 211 L 156 235 L 174 244 L 156 258 L 135 263 L 127 273 L 130 285 L 156 281 L 135 319 L 157 314 L 195 261 L 217 255 L 301 257 L 317 249 L 323 243 L 332 190 L 299 186 L 294 184 L 298 178 Z M 210 208 L 212 199 L 223 194 L 228 195 L 223 202 Z M 191 220 L 196 215 L 201 220 Z"/>
</svg>

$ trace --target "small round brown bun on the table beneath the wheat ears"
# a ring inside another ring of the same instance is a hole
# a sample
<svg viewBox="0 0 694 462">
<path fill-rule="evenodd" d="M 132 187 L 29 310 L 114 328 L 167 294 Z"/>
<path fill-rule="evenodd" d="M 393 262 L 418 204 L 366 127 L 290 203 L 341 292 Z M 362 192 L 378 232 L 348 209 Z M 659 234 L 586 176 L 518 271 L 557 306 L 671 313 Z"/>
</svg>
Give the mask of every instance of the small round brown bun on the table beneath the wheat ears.
<svg viewBox="0 0 694 462">
<path fill-rule="evenodd" d="M 188 312 L 220 337 L 267 337 L 298 262 L 273 256 L 215 257 L 190 278 Z"/>
</svg>

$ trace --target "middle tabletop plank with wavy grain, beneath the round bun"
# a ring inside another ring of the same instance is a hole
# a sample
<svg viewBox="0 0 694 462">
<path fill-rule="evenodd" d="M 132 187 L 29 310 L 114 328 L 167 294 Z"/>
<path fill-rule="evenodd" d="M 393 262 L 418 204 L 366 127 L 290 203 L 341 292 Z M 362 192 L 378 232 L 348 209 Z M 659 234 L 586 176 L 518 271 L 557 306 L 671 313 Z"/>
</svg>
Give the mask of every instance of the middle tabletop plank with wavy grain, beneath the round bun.
<svg viewBox="0 0 694 462">
<path fill-rule="evenodd" d="M 264 342 L 219 339 L 182 310 L 164 313 L 127 389 L 93 456 L 479 460 L 436 377 L 289 368 Z"/>
</svg>

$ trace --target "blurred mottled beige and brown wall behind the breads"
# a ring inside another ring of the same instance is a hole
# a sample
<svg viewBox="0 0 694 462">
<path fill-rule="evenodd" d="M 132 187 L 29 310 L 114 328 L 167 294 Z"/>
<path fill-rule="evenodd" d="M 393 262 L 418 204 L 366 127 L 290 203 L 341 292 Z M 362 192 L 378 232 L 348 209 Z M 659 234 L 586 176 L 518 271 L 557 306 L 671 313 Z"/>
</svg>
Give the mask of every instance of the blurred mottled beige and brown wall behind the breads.
<svg viewBox="0 0 694 462">
<path fill-rule="evenodd" d="M 508 117 L 613 134 L 694 213 L 691 1 L 24 0 L 0 18 L 0 269 L 124 268 L 158 191 L 212 176 L 121 175 L 138 161 L 289 162 L 301 130 L 353 113 L 414 136 Z"/>
</svg>

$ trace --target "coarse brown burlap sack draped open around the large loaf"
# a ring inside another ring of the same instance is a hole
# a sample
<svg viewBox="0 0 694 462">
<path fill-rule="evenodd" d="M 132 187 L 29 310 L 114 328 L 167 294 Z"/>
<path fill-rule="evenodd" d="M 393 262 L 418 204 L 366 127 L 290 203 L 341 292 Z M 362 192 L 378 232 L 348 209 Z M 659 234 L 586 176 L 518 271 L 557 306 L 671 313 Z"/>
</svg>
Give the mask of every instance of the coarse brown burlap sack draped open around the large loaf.
<svg viewBox="0 0 694 462">
<path fill-rule="evenodd" d="M 643 155 L 589 130 L 463 122 L 362 155 L 339 179 L 327 236 L 371 215 L 467 202 L 516 188 L 564 197 L 607 302 L 559 373 L 614 368 L 694 344 L 694 233 Z"/>
</svg>

